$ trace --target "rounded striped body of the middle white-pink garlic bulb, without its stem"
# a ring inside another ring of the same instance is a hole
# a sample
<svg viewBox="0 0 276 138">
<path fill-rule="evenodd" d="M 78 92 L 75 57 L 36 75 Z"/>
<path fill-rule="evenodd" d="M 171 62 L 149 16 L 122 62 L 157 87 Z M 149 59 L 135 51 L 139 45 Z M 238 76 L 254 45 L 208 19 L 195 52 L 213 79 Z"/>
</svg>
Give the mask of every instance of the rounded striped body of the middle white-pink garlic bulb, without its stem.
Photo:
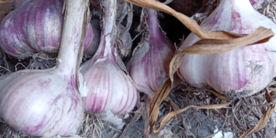
<svg viewBox="0 0 276 138">
<path fill-rule="evenodd" d="M 81 73 L 88 90 L 87 96 L 82 98 L 86 112 L 110 110 L 120 114 L 135 107 L 137 90 L 117 65 L 114 55 L 98 59 L 90 68 L 81 69 Z"/>
</svg>

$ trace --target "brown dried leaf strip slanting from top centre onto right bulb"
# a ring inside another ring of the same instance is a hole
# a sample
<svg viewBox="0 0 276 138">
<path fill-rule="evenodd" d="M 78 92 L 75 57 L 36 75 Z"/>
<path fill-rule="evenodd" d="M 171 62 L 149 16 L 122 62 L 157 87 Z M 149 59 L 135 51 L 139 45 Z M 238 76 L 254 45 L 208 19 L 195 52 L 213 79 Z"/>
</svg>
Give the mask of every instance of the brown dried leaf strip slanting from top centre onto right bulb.
<svg viewBox="0 0 276 138">
<path fill-rule="evenodd" d="M 169 6 L 166 6 L 164 3 L 160 3 L 159 1 L 155 0 L 124 0 L 128 1 L 129 3 L 133 3 L 137 6 L 141 6 L 144 8 L 151 8 L 154 10 L 159 10 L 161 12 L 166 12 L 181 21 L 189 30 L 197 34 L 197 36 L 201 39 L 233 39 L 237 37 L 244 37 L 246 34 L 235 34 L 231 32 L 225 31 L 206 31 L 203 30 L 195 20 L 190 19 L 184 14 L 180 12 L 176 12 Z"/>
</svg>

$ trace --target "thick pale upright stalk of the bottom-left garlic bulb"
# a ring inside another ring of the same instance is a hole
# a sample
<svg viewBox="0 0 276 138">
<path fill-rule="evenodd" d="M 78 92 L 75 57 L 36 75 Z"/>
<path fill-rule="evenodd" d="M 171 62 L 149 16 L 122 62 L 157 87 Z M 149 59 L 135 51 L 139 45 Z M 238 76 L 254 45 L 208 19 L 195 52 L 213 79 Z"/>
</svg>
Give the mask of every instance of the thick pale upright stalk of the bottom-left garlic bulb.
<svg viewBox="0 0 276 138">
<path fill-rule="evenodd" d="M 77 10 L 70 10 L 69 8 Z M 88 0 L 65 1 L 65 9 L 57 69 L 63 75 L 73 75 L 76 78 L 86 30 L 88 29 L 88 19 L 90 19 L 87 17 Z"/>
</svg>

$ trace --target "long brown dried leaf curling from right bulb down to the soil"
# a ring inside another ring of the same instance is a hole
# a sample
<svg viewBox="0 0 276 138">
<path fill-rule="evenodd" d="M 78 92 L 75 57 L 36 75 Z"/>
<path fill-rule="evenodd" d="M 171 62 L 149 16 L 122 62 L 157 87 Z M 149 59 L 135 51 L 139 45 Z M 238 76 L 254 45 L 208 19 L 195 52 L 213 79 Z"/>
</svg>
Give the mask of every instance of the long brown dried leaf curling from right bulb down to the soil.
<svg viewBox="0 0 276 138">
<path fill-rule="evenodd" d="M 163 126 L 169 119 L 173 116 L 179 114 L 180 112 L 184 112 L 188 110 L 188 108 L 197 108 L 197 109 L 215 109 L 215 108 L 223 108 L 228 106 L 231 101 L 222 97 L 219 93 L 215 91 L 208 90 L 215 94 L 219 99 L 227 101 L 226 103 L 221 103 L 219 105 L 207 105 L 207 106 L 188 106 L 181 110 L 175 110 L 173 112 L 168 113 L 162 120 L 159 127 L 155 128 L 155 124 L 157 122 L 159 106 L 162 101 L 168 96 L 170 90 L 172 88 L 173 76 L 184 57 L 185 54 L 215 54 L 220 52 L 228 52 L 230 50 L 235 50 L 242 46 L 250 46 L 255 43 L 264 43 L 273 37 L 274 33 L 270 29 L 266 28 L 258 28 L 252 34 L 248 34 L 245 37 L 239 37 L 235 39 L 201 39 L 197 41 L 193 46 L 190 46 L 172 58 L 170 61 L 170 79 L 168 79 L 161 88 L 155 94 L 155 97 L 150 101 L 150 127 L 153 132 L 158 132 L 161 126 Z M 205 89 L 206 90 L 206 89 Z M 270 102 L 270 101 L 269 101 Z M 267 111 L 270 113 L 270 110 Z M 269 119 L 269 118 L 268 118 Z"/>
</svg>

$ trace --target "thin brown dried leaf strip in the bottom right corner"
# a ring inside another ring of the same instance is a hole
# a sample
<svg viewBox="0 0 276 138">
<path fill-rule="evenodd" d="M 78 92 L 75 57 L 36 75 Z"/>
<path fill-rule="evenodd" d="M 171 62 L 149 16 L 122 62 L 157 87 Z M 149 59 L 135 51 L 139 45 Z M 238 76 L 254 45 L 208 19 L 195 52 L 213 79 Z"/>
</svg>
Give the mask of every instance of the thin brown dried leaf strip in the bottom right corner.
<svg viewBox="0 0 276 138">
<path fill-rule="evenodd" d="M 268 103 L 270 103 L 272 101 L 271 99 L 271 95 L 268 92 L 268 88 L 266 88 L 266 101 Z M 271 116 L 271 114 L 273 113 L 273 111 L 275 110 L 275 103 L 273 103 L 267 110 L 266 112 L 264 112 L 264 115 L 262 116 L 261 119 L 259 119 L 257 125 L 248 130 L 247 132 L 245 132 L 243 135 L 240 135 L 238 138 L 242 138 L 242 137 L 247 137 L 248 135 L 253 134 L 254 132 L 257 132 L 259 130 L 261 130 L 262 128 L 264 128 L 266 126 L 266 124 L 268 124 L 269 118 Z"/>
</svg>

